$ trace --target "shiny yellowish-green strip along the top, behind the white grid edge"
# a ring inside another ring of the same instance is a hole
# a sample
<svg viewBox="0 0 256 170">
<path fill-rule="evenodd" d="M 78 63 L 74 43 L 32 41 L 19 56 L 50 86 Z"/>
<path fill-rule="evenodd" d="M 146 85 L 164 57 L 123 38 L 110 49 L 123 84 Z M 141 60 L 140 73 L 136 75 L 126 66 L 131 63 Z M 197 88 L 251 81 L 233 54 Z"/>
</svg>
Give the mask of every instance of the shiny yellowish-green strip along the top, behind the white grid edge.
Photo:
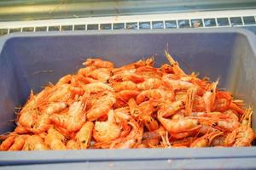
<svg viewBox="0 0 256 170">
<path fill-rule="evenodd" d="M 0 21 L 256 8 L 255 0 L 1 0 Z"/>
</svg>

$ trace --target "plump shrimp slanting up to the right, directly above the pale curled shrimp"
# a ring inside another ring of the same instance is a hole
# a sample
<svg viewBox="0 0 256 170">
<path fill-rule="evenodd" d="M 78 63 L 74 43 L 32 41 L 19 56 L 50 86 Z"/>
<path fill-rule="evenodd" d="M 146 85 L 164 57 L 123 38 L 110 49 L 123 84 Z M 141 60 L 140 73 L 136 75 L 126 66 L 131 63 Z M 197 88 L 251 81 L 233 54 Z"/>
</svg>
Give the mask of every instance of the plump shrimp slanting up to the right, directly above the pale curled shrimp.
<svg viewBox="0 0 256 170">
<path fill-rule="evenodd" d="M 95 121 L 97 118 L 106 115 L 115 102 L 115 96 L 111 93 L 103 96 L 102 99 L 98 99 L 96 104 L 87 112 L 88 121 Z"/>
</svg>

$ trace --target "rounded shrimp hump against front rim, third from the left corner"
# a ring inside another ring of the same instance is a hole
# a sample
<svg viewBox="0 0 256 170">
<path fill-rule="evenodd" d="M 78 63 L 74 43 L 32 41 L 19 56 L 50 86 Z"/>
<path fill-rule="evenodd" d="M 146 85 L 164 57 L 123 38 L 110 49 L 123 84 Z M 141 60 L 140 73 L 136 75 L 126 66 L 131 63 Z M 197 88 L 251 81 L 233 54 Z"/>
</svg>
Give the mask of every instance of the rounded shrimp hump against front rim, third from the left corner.
<svg viewBox="0 0 256 170">
<path fill-rule="evenodd" d="M 38 135 L 28 136 L 22 150 L 49 150 Z"/>
</svg>

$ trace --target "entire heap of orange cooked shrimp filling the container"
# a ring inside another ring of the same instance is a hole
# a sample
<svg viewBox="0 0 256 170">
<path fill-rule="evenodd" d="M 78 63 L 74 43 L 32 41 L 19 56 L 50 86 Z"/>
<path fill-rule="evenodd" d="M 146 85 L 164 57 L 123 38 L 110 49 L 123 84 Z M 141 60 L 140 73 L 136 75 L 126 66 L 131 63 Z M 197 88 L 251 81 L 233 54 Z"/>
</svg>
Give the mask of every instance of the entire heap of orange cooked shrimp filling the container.
<svg viewBox="0 0 256 170">
<path fill-rule="evenodd" d="M 31 92 L 0 150 L 251 146 L 252 108 L 165 54 L 170 64 L 160 68 L 153 58 L 119 68 L 87 59 Z"/>
</svg>

